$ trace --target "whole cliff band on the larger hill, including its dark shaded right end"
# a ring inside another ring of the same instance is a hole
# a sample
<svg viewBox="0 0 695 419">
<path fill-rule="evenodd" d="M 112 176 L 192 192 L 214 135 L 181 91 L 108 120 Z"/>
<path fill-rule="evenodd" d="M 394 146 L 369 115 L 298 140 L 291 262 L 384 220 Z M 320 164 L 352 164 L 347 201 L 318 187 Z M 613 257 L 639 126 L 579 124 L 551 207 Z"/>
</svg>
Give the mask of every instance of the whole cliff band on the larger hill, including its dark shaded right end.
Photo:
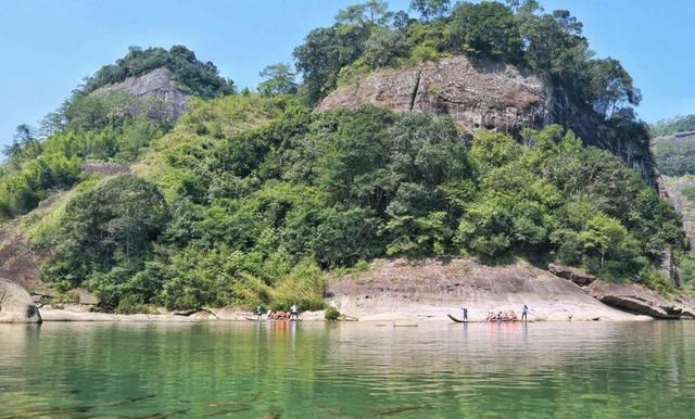
<svg viewBox="0 0 695 419">
<path fill-rule="evenodd" d="M 331 92 L 317 111 L 374 104 L 394 111 L 450 115 L 464 131 L 477 128 L 519 135 L 526 126 L 560 124 L 587 145 L 620 156 L 655 185 L 647 144 L 621 139 L 590 109 L 576 104 L 566 91 L 513 65 L 472 63 L 464 56 L 443 58 L 409 68 L 377 71 Z"/>
</svg>

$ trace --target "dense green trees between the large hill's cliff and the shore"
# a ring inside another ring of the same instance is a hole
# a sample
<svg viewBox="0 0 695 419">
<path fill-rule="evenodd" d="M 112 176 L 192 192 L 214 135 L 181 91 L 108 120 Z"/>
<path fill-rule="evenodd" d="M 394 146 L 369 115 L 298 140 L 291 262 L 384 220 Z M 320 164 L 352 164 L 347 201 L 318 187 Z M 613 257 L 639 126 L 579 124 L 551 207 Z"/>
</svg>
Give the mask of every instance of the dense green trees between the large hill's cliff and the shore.
<svg viewBox="0 0 695 419">
<path fill-rule="evenodd" d="M 223 109 L 264 107 L 267 123 L 218 125 Z M 198 102 L 155 141 L 176 145 L 144 179 L 71 200 L 43 276 L 118 310 L 318 308 L 324 271 L 377 256 L 541 257 L 646 280 L 680 244 L 678 215 L 617 157 L 558 126 L 525 135 L 533 147 L 479 131 L 468 151 L 448 118 L 313 114 L 286 97 Z"/>
</svg>

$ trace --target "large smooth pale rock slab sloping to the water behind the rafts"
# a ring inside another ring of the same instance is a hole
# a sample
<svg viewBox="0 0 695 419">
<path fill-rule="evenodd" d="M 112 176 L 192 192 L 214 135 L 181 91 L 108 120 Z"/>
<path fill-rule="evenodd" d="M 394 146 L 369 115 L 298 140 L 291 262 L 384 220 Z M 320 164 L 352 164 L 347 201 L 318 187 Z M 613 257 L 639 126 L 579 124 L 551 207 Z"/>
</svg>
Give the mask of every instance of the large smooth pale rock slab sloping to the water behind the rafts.
<svg viewBox="0 0 695 419">
<path fill-rule="evenodd" d="M 336 278 L 329 302 L 359 320 L 446 319 L 468 308 L 472 321 L 489 312 L 515 310 L 527 304 L 531 320 L 633 320 L 574 283 L 517 263 L 486 266 L 469 259 L 377 259 L 364 272 Z"/>
</svg>

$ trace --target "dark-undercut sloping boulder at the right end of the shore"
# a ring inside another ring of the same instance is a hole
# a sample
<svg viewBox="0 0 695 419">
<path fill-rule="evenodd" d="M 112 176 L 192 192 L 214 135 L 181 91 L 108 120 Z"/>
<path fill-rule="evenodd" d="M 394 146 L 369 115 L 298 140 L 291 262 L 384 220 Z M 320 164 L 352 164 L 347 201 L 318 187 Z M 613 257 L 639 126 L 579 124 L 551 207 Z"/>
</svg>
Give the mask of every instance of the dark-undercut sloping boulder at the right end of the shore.
<svg viewBox="0 0 695 419">
<path fill-rule="evenodd" d="M 664 319 L 695 318 L 695 309 L 682 300 L 666 300 L 655 291 L 636 283 L 596 280 L 589 285 L 587 293 L 606 305 L 628 312 Z"/>
</svg>

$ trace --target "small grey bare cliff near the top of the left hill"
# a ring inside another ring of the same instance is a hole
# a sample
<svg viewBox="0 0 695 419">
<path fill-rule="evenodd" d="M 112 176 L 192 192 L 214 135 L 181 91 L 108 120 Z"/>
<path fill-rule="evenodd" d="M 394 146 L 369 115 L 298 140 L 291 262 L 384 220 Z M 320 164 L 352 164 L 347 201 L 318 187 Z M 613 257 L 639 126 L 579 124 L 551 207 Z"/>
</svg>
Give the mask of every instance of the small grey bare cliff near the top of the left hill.
<svg viewBox="0 0 695 419">
<path fill-rule="evenodd" d="M 142 76 L 129 77 L 121 82 L 101 87 L 89 94 L 106 98 L 114 93 L 126 93 L 136 99 L 129 103 L 126 112 L 147 112 L 149 117 L 159 120 L 176 120 L 191 98 L 176 86 L 174 73 L 168 68 L 157 68 Z"/>
</svg>

